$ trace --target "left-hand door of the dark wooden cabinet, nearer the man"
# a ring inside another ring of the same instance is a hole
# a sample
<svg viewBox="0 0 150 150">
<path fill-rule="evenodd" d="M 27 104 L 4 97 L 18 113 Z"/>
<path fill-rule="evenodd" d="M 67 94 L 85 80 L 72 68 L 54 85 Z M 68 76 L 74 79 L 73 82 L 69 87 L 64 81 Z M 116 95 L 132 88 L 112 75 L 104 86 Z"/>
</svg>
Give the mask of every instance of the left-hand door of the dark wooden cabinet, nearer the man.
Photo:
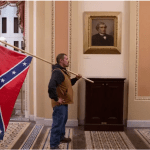
<svg viewBox="0 0 150 150">
<path fill-rule="evenodd" d="M 104 120 L 105 90 L 104 83 L 87 83 L 86 86 L 86 123 L 100 124 Z"/>
</svg>

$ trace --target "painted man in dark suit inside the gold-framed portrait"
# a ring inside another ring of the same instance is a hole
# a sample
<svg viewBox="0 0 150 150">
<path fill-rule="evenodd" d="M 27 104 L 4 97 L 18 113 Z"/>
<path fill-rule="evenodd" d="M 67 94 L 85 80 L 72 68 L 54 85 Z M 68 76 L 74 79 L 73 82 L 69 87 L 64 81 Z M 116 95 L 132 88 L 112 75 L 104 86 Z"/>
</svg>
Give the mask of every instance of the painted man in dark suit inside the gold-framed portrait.
<svg viewBox="0 0 150 150">
<path fill-rule="evenodd" d="M 106 24 L 100 22 L 96 26 L 98 34 L 92 36 L 92 46 L 114 46 L 114 38 L 106 34 Z"/>
</svg>

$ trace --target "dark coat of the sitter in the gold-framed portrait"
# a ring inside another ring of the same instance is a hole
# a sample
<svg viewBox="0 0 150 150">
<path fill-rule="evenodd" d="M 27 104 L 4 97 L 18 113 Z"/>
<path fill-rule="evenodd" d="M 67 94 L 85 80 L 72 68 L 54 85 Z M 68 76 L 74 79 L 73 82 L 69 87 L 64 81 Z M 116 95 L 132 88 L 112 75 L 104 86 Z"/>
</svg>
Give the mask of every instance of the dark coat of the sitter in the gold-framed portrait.
<svg viewBox="0 0 150 150">
<path fill-rule="evenodd" d="M 95 34 L 92 36 L 92 46 L 114 46 L 114 38 L 108 34 Z"/>
</svg>

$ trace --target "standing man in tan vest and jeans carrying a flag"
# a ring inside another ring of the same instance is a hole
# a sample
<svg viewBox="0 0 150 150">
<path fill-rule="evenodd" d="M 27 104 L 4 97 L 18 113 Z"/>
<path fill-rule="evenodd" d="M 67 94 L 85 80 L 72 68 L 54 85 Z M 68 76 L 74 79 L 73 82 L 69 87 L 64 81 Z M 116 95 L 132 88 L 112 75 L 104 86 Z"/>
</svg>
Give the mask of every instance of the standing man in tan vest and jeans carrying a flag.
<svg viewBox="0 0 150 150">
<path fill-rule="evenodd" d="M 52 99 L 53 124 L 51 129 L 50 147 L 59 149 L 60 142 L 70 142 L 65 138 L 65 124 L 68 119 L 68 104 L 73 104 L 72 85 L 81 75 L 70 79 L 66 70 L 69 66 L 68 57 L 61 53 L 56 58 L 57 64 L 52 66 L 52 76 L 48 86 L 49 97 Z"/>
</svg>

